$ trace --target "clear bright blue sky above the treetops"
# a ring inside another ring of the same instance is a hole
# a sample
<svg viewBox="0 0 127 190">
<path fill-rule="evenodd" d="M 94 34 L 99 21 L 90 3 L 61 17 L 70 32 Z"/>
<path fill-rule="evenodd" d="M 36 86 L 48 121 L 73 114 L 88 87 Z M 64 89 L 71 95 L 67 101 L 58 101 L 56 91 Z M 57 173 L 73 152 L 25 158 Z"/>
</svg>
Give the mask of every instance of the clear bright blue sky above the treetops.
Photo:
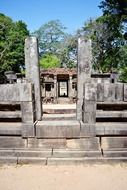
<svg viewBox="0 0 127 190">
<path fill-rule="evenodd" d="M 14 21 L 22 20 L 31 32 L 50 20 L 60 20 L 74 33 L 89 18 L 102 15 L 98 8 L 101 0 L 0 0 L 0 13 Z"/>
</svg>

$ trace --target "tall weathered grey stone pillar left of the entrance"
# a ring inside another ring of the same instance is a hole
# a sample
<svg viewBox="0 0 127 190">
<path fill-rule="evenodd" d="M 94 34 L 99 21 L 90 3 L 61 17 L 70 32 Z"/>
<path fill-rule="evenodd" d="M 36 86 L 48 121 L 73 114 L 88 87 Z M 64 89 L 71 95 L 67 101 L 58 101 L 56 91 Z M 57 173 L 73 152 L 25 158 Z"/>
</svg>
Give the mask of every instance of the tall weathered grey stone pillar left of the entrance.
<svg viewBox="0 0 127 190">
<path fill-rule="evenodd" d="M 38 42 L 36 37 L 28 37 L 25 40 L 25 66 L 26 66 L 26 79 L 34 84 L 36 120 L 41 120 L 42 100 L 41 100 Z"/>
</svg>

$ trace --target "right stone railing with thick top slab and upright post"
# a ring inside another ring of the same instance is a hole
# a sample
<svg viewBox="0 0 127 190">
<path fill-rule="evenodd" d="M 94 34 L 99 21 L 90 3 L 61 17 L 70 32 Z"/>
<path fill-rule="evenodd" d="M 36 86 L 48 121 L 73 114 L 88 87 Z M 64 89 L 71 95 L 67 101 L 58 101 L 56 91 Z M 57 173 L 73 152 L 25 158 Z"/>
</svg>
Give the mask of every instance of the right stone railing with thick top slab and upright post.
<svg viewBox="0 0 127 190">
<path fill-rule="evenodd" d="M 109 106 L 110 104 L 110 109 L 115 111 L 119 106 L 121 114 L 122 110 L 127 110 L 127 84 L 88 82 L 84 83 L 83 90 L 82 121 L 86 126 L 92 125 L 95 127 L 97 104 L 101 103 L 102 108 L 103 105 Z M 124 109 L 122 109 L 122 106 L 124 106 Z"/>
</svg>

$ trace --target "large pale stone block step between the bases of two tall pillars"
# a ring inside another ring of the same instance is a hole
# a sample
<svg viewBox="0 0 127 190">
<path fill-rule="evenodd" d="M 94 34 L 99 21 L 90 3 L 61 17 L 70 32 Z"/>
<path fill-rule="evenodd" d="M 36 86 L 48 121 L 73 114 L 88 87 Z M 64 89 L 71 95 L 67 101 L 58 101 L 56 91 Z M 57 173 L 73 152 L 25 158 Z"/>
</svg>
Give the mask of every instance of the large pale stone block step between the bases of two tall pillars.
<svg viewBox="0 0 127 190">
<path fill-rule="evenodd" d="M 77 120 L 39 121 L 36 124 L 37 138 L 74 138 L 80 135 L 80 123 Z"/>
</svg>

